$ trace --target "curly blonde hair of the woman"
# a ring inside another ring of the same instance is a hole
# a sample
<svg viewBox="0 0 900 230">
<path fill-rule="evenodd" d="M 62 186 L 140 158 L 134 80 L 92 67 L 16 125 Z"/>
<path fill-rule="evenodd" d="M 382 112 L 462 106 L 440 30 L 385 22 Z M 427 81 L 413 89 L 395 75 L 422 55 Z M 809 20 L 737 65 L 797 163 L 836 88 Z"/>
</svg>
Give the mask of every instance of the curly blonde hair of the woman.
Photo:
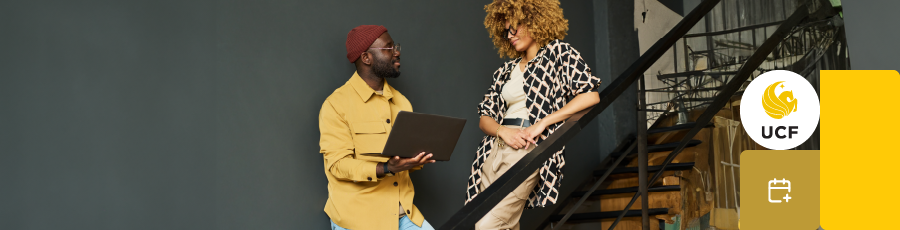
<svg viewBox="0 0 900 230">
<path fill-rule="evenodd" d="M 559 0 L 494 0 L 484 6 L 484 11 L 487 12 L 484 27 L 491 35 L 501 58 L 524 55 L 524 52 L 516 51 L 509 40 L 506 40 L 503 32 L 506 30 L 507 20 L 513 28 L 523 23 L 531 38 L 541 47 L 554 39 L 565 38 L 566 31 L 569 30 L 569 20 L 563 18 Z"/>
</svg>

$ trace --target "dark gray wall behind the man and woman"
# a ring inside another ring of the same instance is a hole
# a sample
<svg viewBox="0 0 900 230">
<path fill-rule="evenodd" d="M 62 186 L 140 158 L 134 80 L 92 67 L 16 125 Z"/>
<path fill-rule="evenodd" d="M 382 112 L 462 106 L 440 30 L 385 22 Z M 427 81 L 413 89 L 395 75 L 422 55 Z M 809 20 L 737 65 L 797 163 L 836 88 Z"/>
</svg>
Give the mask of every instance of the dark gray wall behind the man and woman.
<svg viewBox="0 0 900 230">
<path fill-rule="evenodd" d="M 327 228 L 317 115 L 360 24 L 403 44 L 391 83 L 416 111 L 469 120 L 450 162 L 413 174 L 439 226 L 462 207 L 475 105 L 504 61 L 487 3 L 4 1 L 0 229 Z M 562 7 L 594 63 L 590 2 Z M 597 135 L 568 146 L 567 171 L 599 162 Z"/>
</svg>

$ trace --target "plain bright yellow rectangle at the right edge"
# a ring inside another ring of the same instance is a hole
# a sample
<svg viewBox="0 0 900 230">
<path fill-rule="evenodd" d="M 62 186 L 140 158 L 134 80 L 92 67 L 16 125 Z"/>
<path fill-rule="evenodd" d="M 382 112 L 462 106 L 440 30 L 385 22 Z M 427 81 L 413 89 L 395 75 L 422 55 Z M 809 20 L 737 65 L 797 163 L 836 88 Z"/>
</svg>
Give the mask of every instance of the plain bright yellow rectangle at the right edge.
<svg viewBox="0 0 900 230">
<path fill-rule="evenodd" d="M 896 99 L 900 74 L 893 70 L 821 71 L 822 228 L 891 229 L 860 221 L 866 213 L 900 207 L 891 191 L 900 163 Z"/>
</svg>

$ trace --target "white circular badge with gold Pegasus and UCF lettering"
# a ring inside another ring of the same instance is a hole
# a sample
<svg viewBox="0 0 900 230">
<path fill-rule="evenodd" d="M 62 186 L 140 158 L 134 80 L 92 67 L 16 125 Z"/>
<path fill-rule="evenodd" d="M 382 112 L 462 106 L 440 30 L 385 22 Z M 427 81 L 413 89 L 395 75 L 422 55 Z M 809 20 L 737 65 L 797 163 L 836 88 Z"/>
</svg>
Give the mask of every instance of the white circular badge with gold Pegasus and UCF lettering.
<svg viewBox="0 0 900 230">
<path fill-rule="evenodd" d="M 791 149 L 809 139 L 819 125 L 819 96 L 799 74 L 769 71 L 744 91 L 741 122 L 750 138 L 763 147 Z"/>
</svg>

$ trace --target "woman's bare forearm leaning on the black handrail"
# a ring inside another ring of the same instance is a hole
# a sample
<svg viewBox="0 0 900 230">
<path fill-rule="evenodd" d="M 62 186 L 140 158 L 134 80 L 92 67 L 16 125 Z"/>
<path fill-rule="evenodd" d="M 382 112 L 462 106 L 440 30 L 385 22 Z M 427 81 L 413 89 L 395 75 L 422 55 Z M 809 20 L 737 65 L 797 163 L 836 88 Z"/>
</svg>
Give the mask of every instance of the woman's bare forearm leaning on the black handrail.
<svg viewBox="0 0 900 230">
<path fill-rule="evenodd" d="M 528 128 L 525 128 L 522 132 L 519 132 L 518 135 L 520 138 L 528 140 L 530 143 L 537 144 L 537 137 L 541 135 L 541 132 L 544 132 L 544 129 L 547 129 L 547 127 L 552 124 L 569 119 L 569 117 L 572 117 L 575 113 L 594 106 L 597 103 L 600 103 L 600 93 L 598 92 L 578 94 L 578 96 L 572 98 L 572 101 L 569 101 L 565 106 L 556 112 L 547 115 L 544 119 L 541 119 Z M 527 145 L 525 147 L 528 148 Z"/>
</svg>

